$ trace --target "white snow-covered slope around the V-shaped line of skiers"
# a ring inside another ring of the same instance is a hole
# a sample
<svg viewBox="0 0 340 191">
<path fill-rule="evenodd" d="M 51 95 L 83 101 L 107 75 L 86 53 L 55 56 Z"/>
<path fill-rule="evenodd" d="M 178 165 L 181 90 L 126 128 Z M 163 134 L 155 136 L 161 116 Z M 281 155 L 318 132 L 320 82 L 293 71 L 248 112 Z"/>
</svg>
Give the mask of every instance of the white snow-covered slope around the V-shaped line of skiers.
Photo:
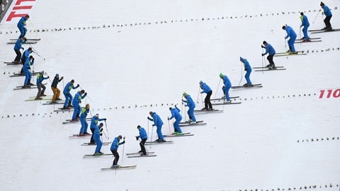
<svg viewBox="0 0 340 191">
<path fill-rule="evenodd" d="M 333 12 L 333 28 L 340 28 L 340 1 L 324 3 Z M 137 168 L 102 171 L 112 165 L 111 156 L 83 158 L 95 146 L 81 146 L 89 138 L 69 139 L 80 129 L 80 123 L 62 125 L 72 112 L 54 112 L 60 105 L 42 105 L 43 100 L 25 101 L 37 89 L 13 91 L 24 78 L 9 75 L 21 67 L 1 64 L 1 190 L 339 190 L 337 32 L 310 34 L 322 42 L 296 43 L 307 55 L 274 57 L 285 71 L 253 71 L 251 80 L 263 88 L 229 91 L 242 104 L 196 115 L 208 125 L 182 128 L 194 136 L 147 146 L 157 157 L 125 155 L 140 150 L 137 125 L 156 138 L 149 111 L 162 117 L 162 132 L 169 134 L 169 107 L 178 105 L 188 120 L 183 91 L 198 99 L 200 109 L 200 80 L 212 88 L 212 98 L 222 96 L 220 72 L 233 86 L 245 83 L 239 57 L 251 66 L 268 64 L 261 57 L 263 40 L 276 52 L 288 50 L 282 25 L 300 37 L 304 11 L 310 29 L 323 28 L 319 8 L 319 1 L 307 0 L 36 2 L 26 35 L 42 39 L 31 45 L 40 55 L 33 54 L 34 71 L 45 70 L 51 81 L 55 74 L 64 76 L 61 90 L 71 79 L 79 83 L 88 93 L 81 105 L 91 105 L 89 116 L 108 119 L 110 141 L 126 137 L 119 164 Z M 6 42 L 18 37 L 17 22 L 0 25 L 1 62 L 15 57 Z M 320 91 L 326 91 L 323 98 Z M 110 145 L 101 151 L 109 153 Z"/>
</svg>

